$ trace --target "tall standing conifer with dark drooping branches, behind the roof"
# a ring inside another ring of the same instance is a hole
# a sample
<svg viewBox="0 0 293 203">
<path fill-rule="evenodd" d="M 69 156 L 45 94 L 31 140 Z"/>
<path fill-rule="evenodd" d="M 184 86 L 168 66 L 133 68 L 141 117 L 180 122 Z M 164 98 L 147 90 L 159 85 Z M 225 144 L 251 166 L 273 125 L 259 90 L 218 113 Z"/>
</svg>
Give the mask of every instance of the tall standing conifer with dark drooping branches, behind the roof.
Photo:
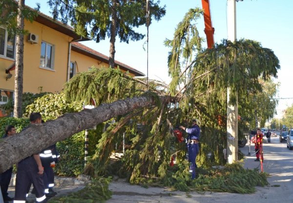
<svg viewBox="0 0 293 203">
<path fill-rule="evenodd" d="M 150 21 L 159 21 L 166 13 L 165 6 L 149 0 Z M 115 40 L 138 41 L 144 35 L 133 28 L 146 24 L 146 0 L 49 0 L 53 18 L 63 23 L 71 22 L 76 32 L 91 37 L 97 43 L 110 38 L 109 66 L 114 67 Z"/>
</svg>

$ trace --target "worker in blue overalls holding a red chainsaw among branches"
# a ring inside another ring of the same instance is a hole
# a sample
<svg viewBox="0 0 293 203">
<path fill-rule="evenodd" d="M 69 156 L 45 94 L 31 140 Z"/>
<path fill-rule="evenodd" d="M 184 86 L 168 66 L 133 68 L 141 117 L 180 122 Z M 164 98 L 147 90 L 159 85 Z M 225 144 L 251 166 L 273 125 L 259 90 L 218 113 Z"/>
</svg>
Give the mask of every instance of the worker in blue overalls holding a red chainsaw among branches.
<svg viewBox="0 0 293 203">
<path fill-rule="evenodd" d="M 188 133 L 188 138 L 186 139 L 188 147 L 188 161 L 190 162 L 191 179 L 193 180 L 195 179 L 195 168 L 197 168 L 195 161 L 196 156 L 199 153 L 198 142 L 200 137 L 200 128 L 197 125 L 197 119 L 192 120 L 192 126 L 190 128 L 183 126 L 180 126 L 179 128 Z"/>
</svg>

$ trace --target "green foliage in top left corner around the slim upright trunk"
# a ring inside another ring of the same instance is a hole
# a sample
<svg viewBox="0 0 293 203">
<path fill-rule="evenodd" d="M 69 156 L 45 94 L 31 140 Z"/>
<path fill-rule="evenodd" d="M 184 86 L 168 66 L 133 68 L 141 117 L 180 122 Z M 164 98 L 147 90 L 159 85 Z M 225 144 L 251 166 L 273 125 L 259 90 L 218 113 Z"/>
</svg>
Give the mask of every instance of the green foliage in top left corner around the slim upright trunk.
<svg viewBox="0 0 293 203">
<path fill-rule="evenodd" d="M 38 15 L 36 11 L 40 9 L 37 4 L 35 10 L 24 6 L 21 9 L 21 15 L 30 22 Z M 26 30 L 19 30 L 17 27 L 16 18 L 18 15 L 18 2 L 15 0 L 1 0 L 0 1 L 0 25 L 5 25 L 5 28 L 10 34 L 27 33 Z"/>
</svg>

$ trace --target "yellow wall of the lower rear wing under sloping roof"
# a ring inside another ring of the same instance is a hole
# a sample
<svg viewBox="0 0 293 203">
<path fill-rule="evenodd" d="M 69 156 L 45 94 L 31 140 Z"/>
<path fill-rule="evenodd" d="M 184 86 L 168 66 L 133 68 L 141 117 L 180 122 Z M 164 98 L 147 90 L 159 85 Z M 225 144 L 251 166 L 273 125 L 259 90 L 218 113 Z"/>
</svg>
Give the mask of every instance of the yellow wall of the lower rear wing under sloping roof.
<svg viewBox="0 0 293 203">
<path fill-rule="evenodd" d="M 70 54 L 70 62 L 74 62 L 76 64 L 76 73 L 87 71 L 88 68 L 96 67 L 96 68 L 108 68 L 109 64 L 105 62 L 101 62 L 97 59 L 91 58 L 84 54 L 78 53 L 76 51 L 71 50 Z M 121 69 L 121 68 L 120 68 Z M 126 70 L 121 69 L 122 72 L 126 72 Z M 134 77 L 135 75 L 129 73 L 130 76 Z"/>
</svg>

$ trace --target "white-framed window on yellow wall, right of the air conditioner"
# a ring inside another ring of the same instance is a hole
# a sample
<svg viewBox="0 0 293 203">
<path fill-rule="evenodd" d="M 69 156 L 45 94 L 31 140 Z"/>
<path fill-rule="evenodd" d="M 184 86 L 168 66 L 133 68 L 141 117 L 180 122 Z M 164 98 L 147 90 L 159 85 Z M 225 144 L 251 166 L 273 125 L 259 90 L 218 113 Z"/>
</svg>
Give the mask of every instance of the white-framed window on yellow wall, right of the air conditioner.
<svg viewBox="0 0 293 203">
<path fill-rule="evenodd" d="M 54 59 L 54 45 L 50 45 L 48 43 L 42 42 L 40 67 L 54 69 L 53 59 Z"/>
</svg>

